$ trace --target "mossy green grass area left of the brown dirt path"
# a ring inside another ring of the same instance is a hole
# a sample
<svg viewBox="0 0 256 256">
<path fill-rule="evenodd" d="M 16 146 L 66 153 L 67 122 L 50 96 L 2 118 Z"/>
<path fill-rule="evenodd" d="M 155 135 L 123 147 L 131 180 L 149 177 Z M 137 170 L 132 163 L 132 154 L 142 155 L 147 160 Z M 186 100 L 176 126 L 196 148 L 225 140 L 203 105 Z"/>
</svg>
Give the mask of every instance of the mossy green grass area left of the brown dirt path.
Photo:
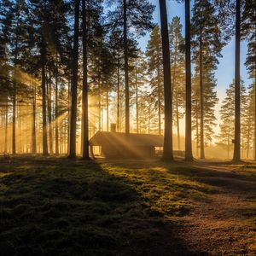
<svg viewBox="0 0 256 256">
<path fill-rule="evenodd" d="M 20 157 L 0 175 L 1 255 L 189 255 L 175 230 L 221 188 L 160 161 Z"/>
</svg>

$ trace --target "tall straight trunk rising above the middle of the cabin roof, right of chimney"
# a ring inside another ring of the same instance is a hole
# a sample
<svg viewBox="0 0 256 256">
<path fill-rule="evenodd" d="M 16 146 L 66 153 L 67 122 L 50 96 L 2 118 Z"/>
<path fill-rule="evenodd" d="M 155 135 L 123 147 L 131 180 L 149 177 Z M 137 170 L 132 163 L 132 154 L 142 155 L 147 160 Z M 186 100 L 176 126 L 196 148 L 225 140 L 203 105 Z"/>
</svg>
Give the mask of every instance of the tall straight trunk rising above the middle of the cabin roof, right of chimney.
<svg viewBox="0 0 256 256">
<path fill-rule="evenodd" d="M 125 133 L 130 133 L 130 92 L 128 71 L 127 3 L 124 1 L 124 47 L 125 47 Z"/>
</svg>

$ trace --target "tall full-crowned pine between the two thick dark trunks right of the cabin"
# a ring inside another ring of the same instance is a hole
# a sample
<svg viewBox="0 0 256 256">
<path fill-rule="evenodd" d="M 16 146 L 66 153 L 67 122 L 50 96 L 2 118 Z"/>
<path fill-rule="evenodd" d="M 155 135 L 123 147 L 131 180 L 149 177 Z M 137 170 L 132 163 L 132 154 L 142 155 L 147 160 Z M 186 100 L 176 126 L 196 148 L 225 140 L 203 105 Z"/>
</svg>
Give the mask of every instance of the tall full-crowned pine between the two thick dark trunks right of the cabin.
<svg viewBox="0 0 256 256">
<path fill-rule="evenodd" d="M 221 50 L 224 47 L 225 41 L 222 37 L 218 17 L 216 16 L 214 5 L 209 0 L 195 0 L 193 7 L 193 53 L 196 70 L 199 76 L 199 98 L 200 102 L 200 148 L 201 159 L 205 159 L 205 114 L 207 108 L 205 105 L 206 96 L 209 96 L 211 90 L 206 87 L 206 84 L 214 84 L 214 76 L 212 71 L 217 68 L 218 57 L 221 57 Z M 206 81 L 206 79 L 213 79 Z M 212 91 L 212 99 L 215 93 Z M 209 125 L 209 124 L 207 124 Z"/>
</svg>

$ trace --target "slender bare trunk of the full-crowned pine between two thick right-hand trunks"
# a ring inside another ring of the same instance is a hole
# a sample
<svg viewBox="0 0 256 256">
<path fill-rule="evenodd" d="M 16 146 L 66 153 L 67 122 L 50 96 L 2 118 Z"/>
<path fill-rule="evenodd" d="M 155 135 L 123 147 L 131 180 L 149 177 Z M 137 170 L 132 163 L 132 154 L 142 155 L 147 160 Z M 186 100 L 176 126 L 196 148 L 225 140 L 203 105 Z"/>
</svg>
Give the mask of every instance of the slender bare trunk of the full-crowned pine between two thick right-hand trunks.
<svg viewBox="0 0 256 256">
<path fill-rule="evenodd" d="M 202 35 L 200 36 L 200 158 L 205 159 L 204 142 L 204 88 L 203 88 L 203 63 L 202 63 Z"/>
</svg>

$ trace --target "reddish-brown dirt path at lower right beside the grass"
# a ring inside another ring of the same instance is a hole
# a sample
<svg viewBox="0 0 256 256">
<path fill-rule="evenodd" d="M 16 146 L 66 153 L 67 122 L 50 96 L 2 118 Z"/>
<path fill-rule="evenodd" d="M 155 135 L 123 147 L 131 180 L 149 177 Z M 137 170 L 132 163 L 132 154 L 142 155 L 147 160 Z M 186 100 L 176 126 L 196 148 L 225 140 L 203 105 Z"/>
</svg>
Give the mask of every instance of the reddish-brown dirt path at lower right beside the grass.
<svg viewBox="0 0 256 256">
<path fill-rule="evenodd" d="M 195 254 L 256 255 L 255 182 L 227 166 L 199 168 L 217 191 L 183 218 L 179 236 Z"/>
</svg>

